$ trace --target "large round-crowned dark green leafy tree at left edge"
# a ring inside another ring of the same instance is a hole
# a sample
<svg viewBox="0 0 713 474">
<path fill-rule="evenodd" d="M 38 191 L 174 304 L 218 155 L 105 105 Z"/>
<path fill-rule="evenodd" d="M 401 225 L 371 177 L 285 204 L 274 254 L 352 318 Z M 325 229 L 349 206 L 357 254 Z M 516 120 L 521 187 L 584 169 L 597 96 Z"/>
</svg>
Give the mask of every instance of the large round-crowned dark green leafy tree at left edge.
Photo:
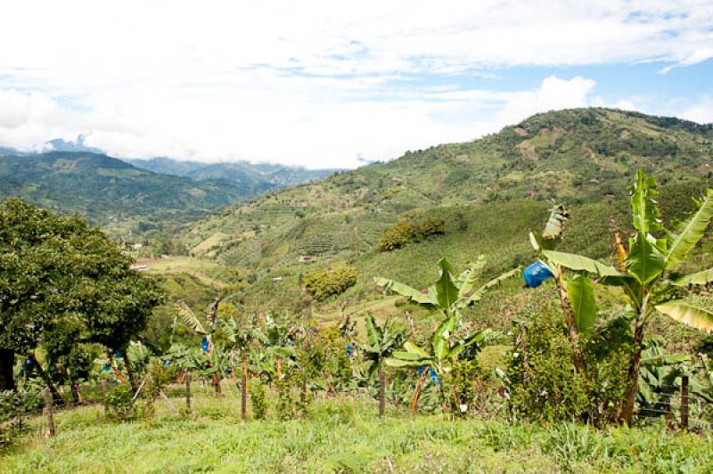
<svg viewBox="0 0 713 474">
<path fill-rule="evenodd" d="M 14 387 L 7 367 L 15 353 L 25 354 L 61 403 L 37 347 L 53 342 L 57 354 L 83 342 L 117 348 L 142 331 L 162 293 L 132 263 L 78 217 L 22 200 L 0 205 L 0 388 Z"/>
</svg>

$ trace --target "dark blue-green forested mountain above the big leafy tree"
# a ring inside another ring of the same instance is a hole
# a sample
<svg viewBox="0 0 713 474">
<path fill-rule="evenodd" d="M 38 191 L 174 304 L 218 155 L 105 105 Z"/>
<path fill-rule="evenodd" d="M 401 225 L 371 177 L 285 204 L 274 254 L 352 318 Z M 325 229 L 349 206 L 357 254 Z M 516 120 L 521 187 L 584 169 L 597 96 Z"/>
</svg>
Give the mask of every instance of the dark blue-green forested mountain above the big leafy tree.
<svg viewBox="0 0 713 474">
<path fill-rule="evenodd" d="M 0 158 L 0 199 L 15 196 L 85 216 L 115 234 L 189 222 L 246 197 L 225 181 L 196 182 L 67 151 Z"/>
</svg>

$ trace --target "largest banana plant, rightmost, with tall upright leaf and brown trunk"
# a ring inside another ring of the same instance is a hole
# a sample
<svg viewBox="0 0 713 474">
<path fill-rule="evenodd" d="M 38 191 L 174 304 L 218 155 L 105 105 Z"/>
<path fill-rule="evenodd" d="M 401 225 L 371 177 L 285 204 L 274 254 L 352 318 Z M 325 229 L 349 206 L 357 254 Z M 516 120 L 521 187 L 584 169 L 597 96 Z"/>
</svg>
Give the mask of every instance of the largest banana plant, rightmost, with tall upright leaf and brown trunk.
<svg viewBox="0 0 713 474">
<path fill-rule="evenodd" d="M 713 190 L 707 190 L 696 201 L 693 213 L 673 230 L 666 229 L 661 221 L 657 194 L 655 178 L 640 170 L 635 184 L 629 188 L 634 233 L 628 240 L 628 248 L 622 245 L 619 249 L 623 259 L 621 269 L 589 257 L 552 249 L 542 251 L 553 271 L 561 266 L 578 274 L 593 275 L 597 282 L 619 287 L 627 296 L 633 314 L 634 349 L 629 360 L 627 389 L 619 406 L 619 421 L 628 425 L 638 390 L 644 331 L 652 315 L 660 313 L 693 328 L 713 330 L 713 312 L 709 308 L 679 298 L 689 287 L 713 282 L 713 269 L 684 276 L 676 274 L 713 217 Z M 591 295 L 591 290 L 586 288 L 586 293 Z M 583 305 L 582 311 L 594 319 L 594 304 Z"/>
</svg>

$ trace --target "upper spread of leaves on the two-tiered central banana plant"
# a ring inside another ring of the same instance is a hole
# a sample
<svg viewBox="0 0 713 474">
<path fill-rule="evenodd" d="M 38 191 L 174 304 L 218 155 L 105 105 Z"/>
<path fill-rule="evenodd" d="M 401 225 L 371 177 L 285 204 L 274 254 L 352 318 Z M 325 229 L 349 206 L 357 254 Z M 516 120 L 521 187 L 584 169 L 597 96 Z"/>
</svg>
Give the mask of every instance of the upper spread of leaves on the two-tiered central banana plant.
<svg viewBox="0 0 713 474">
<path fill-rule="evenodd" d="M 485 263 L 485 256 L 479 256 L 475 262 L 469 263 L 465 271 L 456 279 L 454 278 L 453 266 L 446 258 L 441 258 L 438 260 L 440 271 L 438 282 L 430 285 L 426 294 L 404 283 L 389 280 L 388 278 L 376 277 L 373 282 L 386 291 L 393 291 L 411 299 L 415 303 L 437 309 L 443 315 L 459 315 L 463 308 L 471 306 L 482 299 L 489 289 L 520 273 L 520 267 L 517 267 L 479 285 L 480 273 Z"/>
</svg>

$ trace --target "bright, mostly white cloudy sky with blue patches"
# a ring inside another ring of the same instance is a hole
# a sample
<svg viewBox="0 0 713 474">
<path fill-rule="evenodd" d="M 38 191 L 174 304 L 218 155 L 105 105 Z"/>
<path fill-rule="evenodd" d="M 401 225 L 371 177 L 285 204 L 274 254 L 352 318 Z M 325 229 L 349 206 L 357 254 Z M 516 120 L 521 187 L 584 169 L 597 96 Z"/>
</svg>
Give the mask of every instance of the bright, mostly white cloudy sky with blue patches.
<svg viewBox="0 0 713 474">
<path fill-rule="evenodd" d="M 713 122 L 713 1 L 6 2 L 0 146 L 355 168 L 532 114 Z"/>
</svg>

